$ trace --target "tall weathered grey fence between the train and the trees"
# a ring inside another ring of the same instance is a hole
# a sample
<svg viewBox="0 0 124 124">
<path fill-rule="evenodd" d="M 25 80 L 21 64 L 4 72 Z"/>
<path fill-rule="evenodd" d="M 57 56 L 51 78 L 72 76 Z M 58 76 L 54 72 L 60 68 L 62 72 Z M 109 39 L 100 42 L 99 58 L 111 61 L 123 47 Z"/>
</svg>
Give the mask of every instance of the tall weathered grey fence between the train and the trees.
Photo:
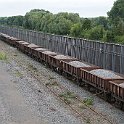
<svg viewBox="0 0 124 124">
<path fill-rule="evenodd" d="M 0 26 L 0 32 L 124 74 L 124 46 Z"/>
</svg>

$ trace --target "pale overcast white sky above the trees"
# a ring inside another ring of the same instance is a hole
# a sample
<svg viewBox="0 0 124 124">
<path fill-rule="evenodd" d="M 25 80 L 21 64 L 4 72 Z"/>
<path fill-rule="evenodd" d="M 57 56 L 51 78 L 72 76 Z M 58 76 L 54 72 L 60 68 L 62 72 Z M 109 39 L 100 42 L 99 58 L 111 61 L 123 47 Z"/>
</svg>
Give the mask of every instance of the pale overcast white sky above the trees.
<svg viewBox="0 0 124 124">
<path fill-rule="evenodd" d="M 81 17 L 107 16 L 115 0 L 0 0 L 0 17 L 25 15 L 31 9 L 74 12 Z"/>
</svg>

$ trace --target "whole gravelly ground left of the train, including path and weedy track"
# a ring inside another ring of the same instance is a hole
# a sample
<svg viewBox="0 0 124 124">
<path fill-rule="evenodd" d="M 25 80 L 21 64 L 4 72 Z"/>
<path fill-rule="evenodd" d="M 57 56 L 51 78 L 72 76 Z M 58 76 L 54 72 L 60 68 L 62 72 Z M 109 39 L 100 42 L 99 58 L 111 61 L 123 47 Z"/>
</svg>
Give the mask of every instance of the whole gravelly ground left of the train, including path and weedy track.
<svg viewBox="0 0 124 124">
<path fill-rule="evenodd" d="M 0 41 L 0 52 L 6 55 L 0 60 L 1 124 L 123 124 L 124 112 L 16 48 Z M 93 105 L 81 102 L 86 97 Z"/>
</svg>

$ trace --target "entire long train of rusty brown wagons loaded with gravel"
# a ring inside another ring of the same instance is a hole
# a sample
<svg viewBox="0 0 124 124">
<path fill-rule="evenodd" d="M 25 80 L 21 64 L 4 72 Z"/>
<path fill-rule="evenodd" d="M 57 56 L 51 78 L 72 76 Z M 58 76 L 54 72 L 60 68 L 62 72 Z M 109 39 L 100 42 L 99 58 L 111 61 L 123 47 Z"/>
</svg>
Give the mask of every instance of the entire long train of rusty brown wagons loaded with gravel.
<svg viewBox="0 0 124 124">
<path fill-rule="evenodd" d="M 0 33 L 0 39 L 124 109 L 124 75 Z"/>
</svg>

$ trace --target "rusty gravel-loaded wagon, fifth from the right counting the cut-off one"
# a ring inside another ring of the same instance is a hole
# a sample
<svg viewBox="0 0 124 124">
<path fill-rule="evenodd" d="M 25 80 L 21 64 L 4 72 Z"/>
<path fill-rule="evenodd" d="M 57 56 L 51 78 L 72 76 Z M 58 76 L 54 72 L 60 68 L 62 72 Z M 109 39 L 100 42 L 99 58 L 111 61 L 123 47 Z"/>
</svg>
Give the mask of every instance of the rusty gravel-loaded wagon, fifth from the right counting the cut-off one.
<svg viewBox="0 0 124 124">
<path fill-rule="evenodd" d="M 56 56 L 57 53 L 51 51 L 44 51 L 41 53 L 42 60 L 51 66 L 51 58 Z"/>
</svg>

